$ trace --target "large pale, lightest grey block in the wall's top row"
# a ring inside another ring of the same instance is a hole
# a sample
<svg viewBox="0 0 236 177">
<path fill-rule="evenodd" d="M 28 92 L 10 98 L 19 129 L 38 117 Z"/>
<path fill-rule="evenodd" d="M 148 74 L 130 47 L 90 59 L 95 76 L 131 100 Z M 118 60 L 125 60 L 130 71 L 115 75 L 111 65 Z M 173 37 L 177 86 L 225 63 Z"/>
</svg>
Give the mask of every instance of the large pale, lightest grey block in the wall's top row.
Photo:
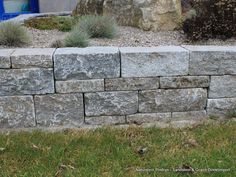
<svg viewBox="0 0 236 177">
<path fill-rule="evenodd" d="M 122 77 L 188 75 L 189 54 L 181 47 L 125 47 L 120 51 Z"/>
</svg>

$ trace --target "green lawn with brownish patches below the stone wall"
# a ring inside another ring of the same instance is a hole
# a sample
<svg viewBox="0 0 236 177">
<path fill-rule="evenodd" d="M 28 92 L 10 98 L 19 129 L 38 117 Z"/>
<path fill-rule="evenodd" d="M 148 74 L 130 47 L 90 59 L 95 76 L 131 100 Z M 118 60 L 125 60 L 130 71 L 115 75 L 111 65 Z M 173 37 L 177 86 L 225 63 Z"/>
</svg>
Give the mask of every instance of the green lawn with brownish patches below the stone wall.
<svg viewBox="0 0 236 177">
<path fill-rule="evenodd" d="M 189 144 L 193 139 L 197 145 Z M 147 147 L 143 155 L 139 147 Z M 2 149 L 1 149 L 2 148 Z M 4 149 L 5 148 L 5 149 Z M 230 169 L 194 174 L 136 168 Z M 186 129 L 103 128 L 0 135 L 0 176 L 236 176 L 236 123 Z"/>
</svg>

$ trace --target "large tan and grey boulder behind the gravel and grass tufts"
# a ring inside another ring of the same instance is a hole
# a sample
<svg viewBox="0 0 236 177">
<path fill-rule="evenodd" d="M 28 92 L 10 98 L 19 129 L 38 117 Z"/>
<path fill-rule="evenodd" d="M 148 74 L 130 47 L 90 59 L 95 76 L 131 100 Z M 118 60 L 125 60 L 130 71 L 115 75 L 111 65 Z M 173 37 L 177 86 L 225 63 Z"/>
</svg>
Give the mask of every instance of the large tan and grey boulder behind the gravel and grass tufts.
<svg viewBox="0 0 236 177">
<path fill-rule="evenodd" d="M 173 30 L 181 21 L 181 0 L 79 0 L 75 15 L 114 17 L 119 25 L 144 30 Z"/>
</svg>

